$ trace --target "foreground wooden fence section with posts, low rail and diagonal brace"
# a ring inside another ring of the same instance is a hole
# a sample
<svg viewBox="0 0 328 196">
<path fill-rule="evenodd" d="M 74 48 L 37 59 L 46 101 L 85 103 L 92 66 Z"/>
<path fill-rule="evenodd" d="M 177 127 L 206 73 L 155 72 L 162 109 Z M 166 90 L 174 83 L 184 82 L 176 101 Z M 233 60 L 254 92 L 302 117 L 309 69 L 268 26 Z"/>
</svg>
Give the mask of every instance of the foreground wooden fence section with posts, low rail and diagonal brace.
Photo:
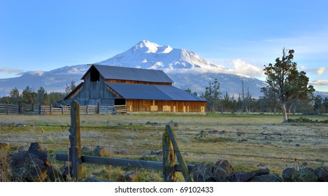
<svg viewBox="0 0 328 196">
<path fill-rule="evenodd" d="M 194 165 L 187 165 L 185 163 L 185 159 L 180 153 L 178 147 L 176 135 L 171 130 L 171 125 L 166 125 L 166 130 L 162 136 L 163 162 L 128 160 L 119 158 L 101 158 L 82 155 L 80 141 L 80 106 L 76 101 L 71 102 L 71 128 L 69 129 L 69 132 L 69 140 L 71 143 L 71 148 L 69 148 L 69 155 L 56 154 L 56 160 L 70 161 L 72 163 L 71 175 L 76 181 L 80 179 L 83 162 L 99 165 L 162 170 L 164 181 L 171 182 L 176 181 L 175 172 L 182 172 L 185 181 L 192 181 L 190 178 L 190 172 L 192 169 L 194 169 Z M 179 164 L 176 164 L 176 158 Z"/>
</svg>

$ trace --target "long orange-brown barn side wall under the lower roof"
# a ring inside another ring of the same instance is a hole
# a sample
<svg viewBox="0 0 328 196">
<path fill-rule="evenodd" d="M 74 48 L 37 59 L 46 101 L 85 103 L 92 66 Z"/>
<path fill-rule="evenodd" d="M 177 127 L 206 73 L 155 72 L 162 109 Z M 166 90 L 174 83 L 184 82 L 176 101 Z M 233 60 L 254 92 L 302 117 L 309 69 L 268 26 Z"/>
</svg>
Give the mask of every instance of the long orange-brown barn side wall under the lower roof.
<svg viewBox="0 0 328 196">
<path fill-rule="evenodd" d="M 127 111 L 206 112 L 206 102 L 127 99 Z"/>
</svg>

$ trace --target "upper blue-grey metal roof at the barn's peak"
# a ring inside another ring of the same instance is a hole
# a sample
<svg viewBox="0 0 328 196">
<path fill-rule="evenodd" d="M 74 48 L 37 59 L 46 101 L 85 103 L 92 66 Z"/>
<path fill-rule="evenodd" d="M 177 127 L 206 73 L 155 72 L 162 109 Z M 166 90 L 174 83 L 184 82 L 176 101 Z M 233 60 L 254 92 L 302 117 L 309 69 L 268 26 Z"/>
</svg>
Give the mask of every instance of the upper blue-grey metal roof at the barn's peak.
<svg viewBox="0 0 328 196">
<path fill-rule="evenodd" d="M 171 80 L 171 78 L 169 78 L 169 76 L 167 76 L 162 70 L 138 69 L 100 64 L 92 64 L 92 66 L 94 66 L 105 79 L 173 83 L 173 80 Z M 87 73 L 85 73 L 85 76 L 86 74 Z M 85 78 L 85 76 L 83 76 L 83 78 Z"/>
</svg>

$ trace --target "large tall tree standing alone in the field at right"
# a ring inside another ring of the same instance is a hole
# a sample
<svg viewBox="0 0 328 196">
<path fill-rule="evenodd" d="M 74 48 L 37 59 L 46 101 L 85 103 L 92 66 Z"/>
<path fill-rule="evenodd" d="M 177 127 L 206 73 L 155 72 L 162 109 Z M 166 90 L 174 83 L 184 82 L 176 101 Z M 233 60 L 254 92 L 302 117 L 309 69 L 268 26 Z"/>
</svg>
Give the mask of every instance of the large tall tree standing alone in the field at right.
<svg viewBox="0 0 328 196">
<path fill-rule="evenodd" d="M 305 71 L 297 70 L 297 63 L 293 62 L 294 50 L 283 48 L 283 56 L 278 57 L 275 64 L 264 65 L 268 88 L 279 99 L 283 122 L 287 122 L 292 106 L 299 99 L 307 99 L 315 92 L 312 85 L 308 85 Z M 288 113 L 287 113 L 288 108 Z"/>
</svg>

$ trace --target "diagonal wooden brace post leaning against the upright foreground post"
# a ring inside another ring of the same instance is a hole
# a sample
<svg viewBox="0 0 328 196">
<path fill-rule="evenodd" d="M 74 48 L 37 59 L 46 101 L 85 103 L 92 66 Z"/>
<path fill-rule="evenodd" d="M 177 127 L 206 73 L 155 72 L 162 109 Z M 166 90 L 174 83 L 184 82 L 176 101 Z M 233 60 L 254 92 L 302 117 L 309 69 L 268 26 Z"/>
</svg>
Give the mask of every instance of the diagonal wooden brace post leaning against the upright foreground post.
<svg viewBox="0 0 328 196">
<path fill-rule="evenodd" d="M 183 177 L 185 178 L 186 182 L 191 182 L 192 179 L 190 179 L 187 164 L 185 163 L 185 158 L 183 158 L 183 155 L 181 155 L 181 153 L 180 153 L 179 146 L 178 146 L 178 140 L 176 139 L 176 134 L 174 134 L 171 130 L 171 125 L 166 125 L 166 132 L 169 134 L 169 137 L 171 139 L 173 149 L 176 153 L 176 158 L 178 159 L 178 162 L 181 167 L 181 172 L 183 172 Z"/>
</svg>

